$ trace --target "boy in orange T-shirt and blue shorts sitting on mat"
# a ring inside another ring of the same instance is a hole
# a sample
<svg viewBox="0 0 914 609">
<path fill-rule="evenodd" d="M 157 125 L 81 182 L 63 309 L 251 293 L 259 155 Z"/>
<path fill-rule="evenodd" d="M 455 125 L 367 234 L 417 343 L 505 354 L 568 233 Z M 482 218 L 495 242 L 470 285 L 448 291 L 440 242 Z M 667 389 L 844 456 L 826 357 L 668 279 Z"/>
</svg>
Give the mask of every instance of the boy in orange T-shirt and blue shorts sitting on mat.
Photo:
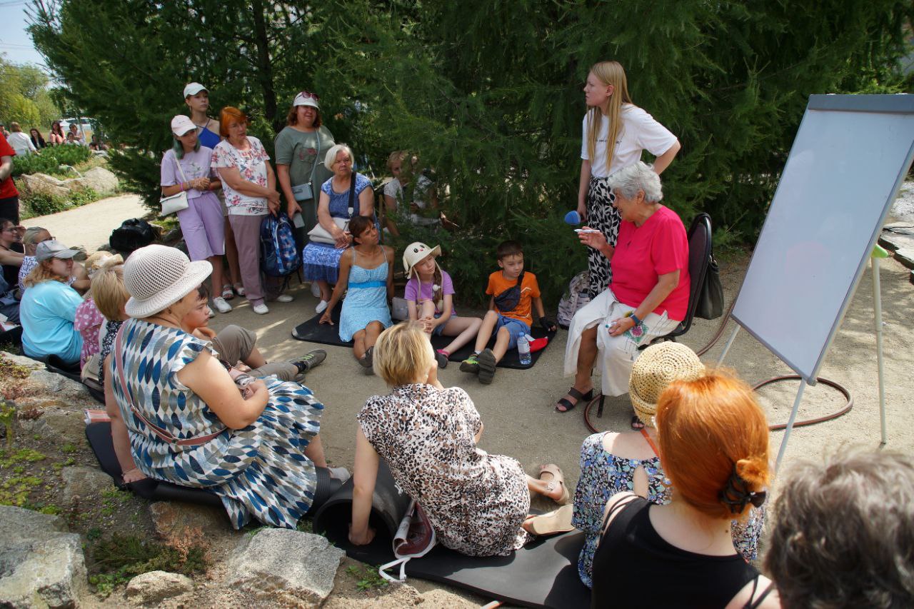
<svg viewBox="0 0 914 609">
<path fill-rule="evenodd" d="M 476 335 L 473 355 L 462 361 L 460 369 L 479 375 L 479 382 L 488 385 L 495 375 L 495 366 L 505 357 L 508 349 L 517 347 L 517 338 L 529 334 L 533 325 L 531 305 L 537 309 L 539 325 L 554 330 L 555 324 L 546 318 L 543 301 L 539 297 L 537 276 L 524 272 L 524 249 L 517 241 L 503 241 L 495 251 L 501 271 L 489 275 L 485 294 L 490 294 L 489 312 Z M 486 348 L 492 333 L 494 348 Z"/>
</svg>

